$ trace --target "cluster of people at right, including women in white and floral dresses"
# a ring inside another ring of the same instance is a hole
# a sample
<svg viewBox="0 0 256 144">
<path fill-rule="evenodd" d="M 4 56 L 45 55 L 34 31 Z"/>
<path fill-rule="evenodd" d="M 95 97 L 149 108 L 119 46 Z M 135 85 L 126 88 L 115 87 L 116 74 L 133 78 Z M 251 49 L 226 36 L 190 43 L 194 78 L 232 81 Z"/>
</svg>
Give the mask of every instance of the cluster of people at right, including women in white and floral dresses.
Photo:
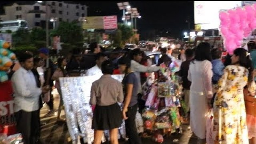
<svg viewBox="0 0 256 144">
<path fill-rule="evenodd" d="M 186 50 L 180 75 L 185 101 L 190 107 L 191 130 L 198 137 L 198 144 L 206 144 L 206 117 L 211 109 L 211 143 L 249 144 L 251 139 L 250 143 L 255 144 L 256 117 L 246 114 L 244 101 L 245 88 L 252 96 L 256 90 L 255 48 L 255 42 L 251 43 L 250 54 L 244 48 L 237 48 L 232 56 L 227 56 L 225 64 L 221 60 L 222 52 L 211 49 L 207 42 L 200 43 L 194 52 Z"/>
</svg>

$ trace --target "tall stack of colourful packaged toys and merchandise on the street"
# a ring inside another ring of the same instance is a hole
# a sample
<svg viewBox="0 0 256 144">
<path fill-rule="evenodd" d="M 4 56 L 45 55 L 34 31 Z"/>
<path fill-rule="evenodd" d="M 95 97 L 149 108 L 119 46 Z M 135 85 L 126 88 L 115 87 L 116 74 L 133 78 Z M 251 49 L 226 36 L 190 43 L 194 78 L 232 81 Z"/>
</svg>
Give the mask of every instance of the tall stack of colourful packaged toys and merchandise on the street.
<svg viewBox="0 0 256 144">
<path fill-rule="evenodd" d="M 162 143 L 164 135 L 182 132 L 180 109 L 182 109 L 181 79 L 174 75 L 172 68 L 160 65 L 158 80 L 148 84 L 150 88 L 144 90 L 146 108 L 143 110 L 145 133 L 153 136 L 156 142 Z"/>
</svg>

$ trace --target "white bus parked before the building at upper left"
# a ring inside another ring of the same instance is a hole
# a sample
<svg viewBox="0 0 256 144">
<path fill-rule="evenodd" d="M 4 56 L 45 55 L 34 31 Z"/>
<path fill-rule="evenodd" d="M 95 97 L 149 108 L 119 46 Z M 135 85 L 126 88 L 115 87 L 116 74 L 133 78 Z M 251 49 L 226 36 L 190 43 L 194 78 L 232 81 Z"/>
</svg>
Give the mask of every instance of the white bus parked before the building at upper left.
<svg viewBox="0 0 256 144">
<path fill-rule="evenodd" d="M 11 30 L 16 32 L 19 29 L 28 28 L 28 22 L 26 20 L 7 20 L 0 22 L 0 31 L 6 32 L 6 30 Z"/>
</svg>

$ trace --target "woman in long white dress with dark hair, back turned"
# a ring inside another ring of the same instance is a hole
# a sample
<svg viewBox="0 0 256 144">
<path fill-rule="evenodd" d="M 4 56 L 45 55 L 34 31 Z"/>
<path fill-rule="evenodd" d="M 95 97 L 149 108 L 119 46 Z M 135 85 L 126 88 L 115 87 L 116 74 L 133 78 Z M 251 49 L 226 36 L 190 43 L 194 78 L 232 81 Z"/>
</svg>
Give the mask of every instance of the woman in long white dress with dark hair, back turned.
<svg viewBox="0 0 256 144">
<path fill-rule="evenodd" d="M 198 137 L 198 144 L 206 143 L 206 115 L 212 99 L 212 63 L 210 44 L 201 42 L 190 62 L 188 80 L 190 86 L 190 126 Z"/>
</svg>

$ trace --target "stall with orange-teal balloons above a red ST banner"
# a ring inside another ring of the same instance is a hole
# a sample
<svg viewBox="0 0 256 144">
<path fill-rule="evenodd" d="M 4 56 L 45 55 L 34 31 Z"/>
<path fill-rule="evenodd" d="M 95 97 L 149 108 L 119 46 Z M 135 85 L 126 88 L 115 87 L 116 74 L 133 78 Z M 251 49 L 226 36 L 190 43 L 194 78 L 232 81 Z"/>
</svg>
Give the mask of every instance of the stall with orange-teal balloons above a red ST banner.
<svg viewBox="0 0 256 144">
<path fill-rule="evenodd" d="M 16 56 L 9 47 L 8 42 L 0 40 L 0 144 L 19 144 L 22 136 L 16 132 L 12 82 L 7 74 Z"/>
</svg>

